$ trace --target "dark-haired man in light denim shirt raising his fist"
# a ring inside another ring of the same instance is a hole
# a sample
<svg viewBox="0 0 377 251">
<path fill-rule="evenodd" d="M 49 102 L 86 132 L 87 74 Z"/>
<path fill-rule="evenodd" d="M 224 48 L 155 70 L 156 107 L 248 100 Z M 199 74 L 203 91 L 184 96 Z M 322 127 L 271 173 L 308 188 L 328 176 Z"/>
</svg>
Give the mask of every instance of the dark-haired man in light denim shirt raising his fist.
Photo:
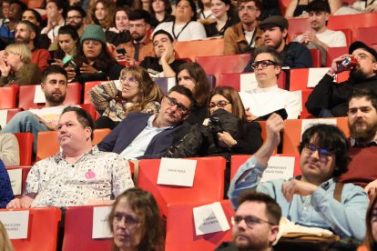
<svg viewBox="0 0 377 251">
<path fill-rule="evenodd" d="M 280 115 L 267 120 L 265 143 L 239 167 L 230 183 L 232 206 L 238 206 L 238 197 L 245 190 L 257 190 L 274 198 L 282 216 L 295 224 L 362 240 L 369 199 L 361 186 L 337 182 L 351 160 L 349 142 L 338 127 L 318 124 L 305 130 L 299 146 L 301 176 L 260 183 L 283 128 Z"/>
</svg>

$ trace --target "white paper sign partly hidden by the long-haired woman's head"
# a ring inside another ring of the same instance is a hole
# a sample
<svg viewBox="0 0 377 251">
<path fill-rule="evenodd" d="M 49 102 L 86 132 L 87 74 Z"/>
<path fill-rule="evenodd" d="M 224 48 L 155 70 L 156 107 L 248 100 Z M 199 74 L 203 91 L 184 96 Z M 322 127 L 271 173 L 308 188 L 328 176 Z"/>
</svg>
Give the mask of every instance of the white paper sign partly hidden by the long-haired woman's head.
<svg viewBox="0 0 377 251">
<path fill-rule="evenodd" d="M 111 206 L 95 206 L 93 207 L 93 229 L 92 238 L 111 238 L 110 229 L 108 228 L 108 214 L 110 214 Z"/>
</svg>

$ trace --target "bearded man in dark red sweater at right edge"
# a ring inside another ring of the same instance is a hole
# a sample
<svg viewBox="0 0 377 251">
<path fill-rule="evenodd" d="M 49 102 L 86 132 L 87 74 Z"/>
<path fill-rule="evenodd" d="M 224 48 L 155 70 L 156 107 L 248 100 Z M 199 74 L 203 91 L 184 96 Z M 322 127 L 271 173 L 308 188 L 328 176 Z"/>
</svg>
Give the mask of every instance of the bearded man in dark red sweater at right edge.
<svg viewBox="0 0 377 251">
<path fill-rule="evenodd" d="M 348 102 L 350 155 L 347 173 L 340 177 L 344 183 L 365 186 L 365 191 L 377 188 L 377 95 L 367 89 L 355 89 Z"/>
</svg>

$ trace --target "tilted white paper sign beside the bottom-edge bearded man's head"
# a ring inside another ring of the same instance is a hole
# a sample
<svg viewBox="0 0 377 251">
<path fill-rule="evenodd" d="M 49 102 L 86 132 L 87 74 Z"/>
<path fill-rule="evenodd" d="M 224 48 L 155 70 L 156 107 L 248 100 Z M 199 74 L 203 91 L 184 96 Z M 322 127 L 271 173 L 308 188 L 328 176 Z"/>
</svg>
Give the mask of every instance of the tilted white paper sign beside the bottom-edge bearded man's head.
<svg viewBox="0 0 377 251">
<path fill-rule="evenodd" d="M 193 208 L 197 236 L 229 230 L 230 226 L 219 202 Z"/>
</svg>

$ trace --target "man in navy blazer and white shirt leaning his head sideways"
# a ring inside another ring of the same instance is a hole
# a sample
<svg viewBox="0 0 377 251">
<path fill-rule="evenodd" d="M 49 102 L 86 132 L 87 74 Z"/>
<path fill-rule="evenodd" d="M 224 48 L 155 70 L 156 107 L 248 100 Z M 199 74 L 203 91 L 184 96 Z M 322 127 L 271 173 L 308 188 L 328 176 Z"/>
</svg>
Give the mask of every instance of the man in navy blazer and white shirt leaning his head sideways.
<svg viewBox="0 0 377 251">
<path fill-rule="evenodd" d="M 131 113 L 99 144 L 105 152 L 114 152 L 125 159 L 159 158 L 186 131 L 183 123 L 194 105 L 188 88 L 176 85 L 161 101 L 157 115 Z"/>
</svg>

